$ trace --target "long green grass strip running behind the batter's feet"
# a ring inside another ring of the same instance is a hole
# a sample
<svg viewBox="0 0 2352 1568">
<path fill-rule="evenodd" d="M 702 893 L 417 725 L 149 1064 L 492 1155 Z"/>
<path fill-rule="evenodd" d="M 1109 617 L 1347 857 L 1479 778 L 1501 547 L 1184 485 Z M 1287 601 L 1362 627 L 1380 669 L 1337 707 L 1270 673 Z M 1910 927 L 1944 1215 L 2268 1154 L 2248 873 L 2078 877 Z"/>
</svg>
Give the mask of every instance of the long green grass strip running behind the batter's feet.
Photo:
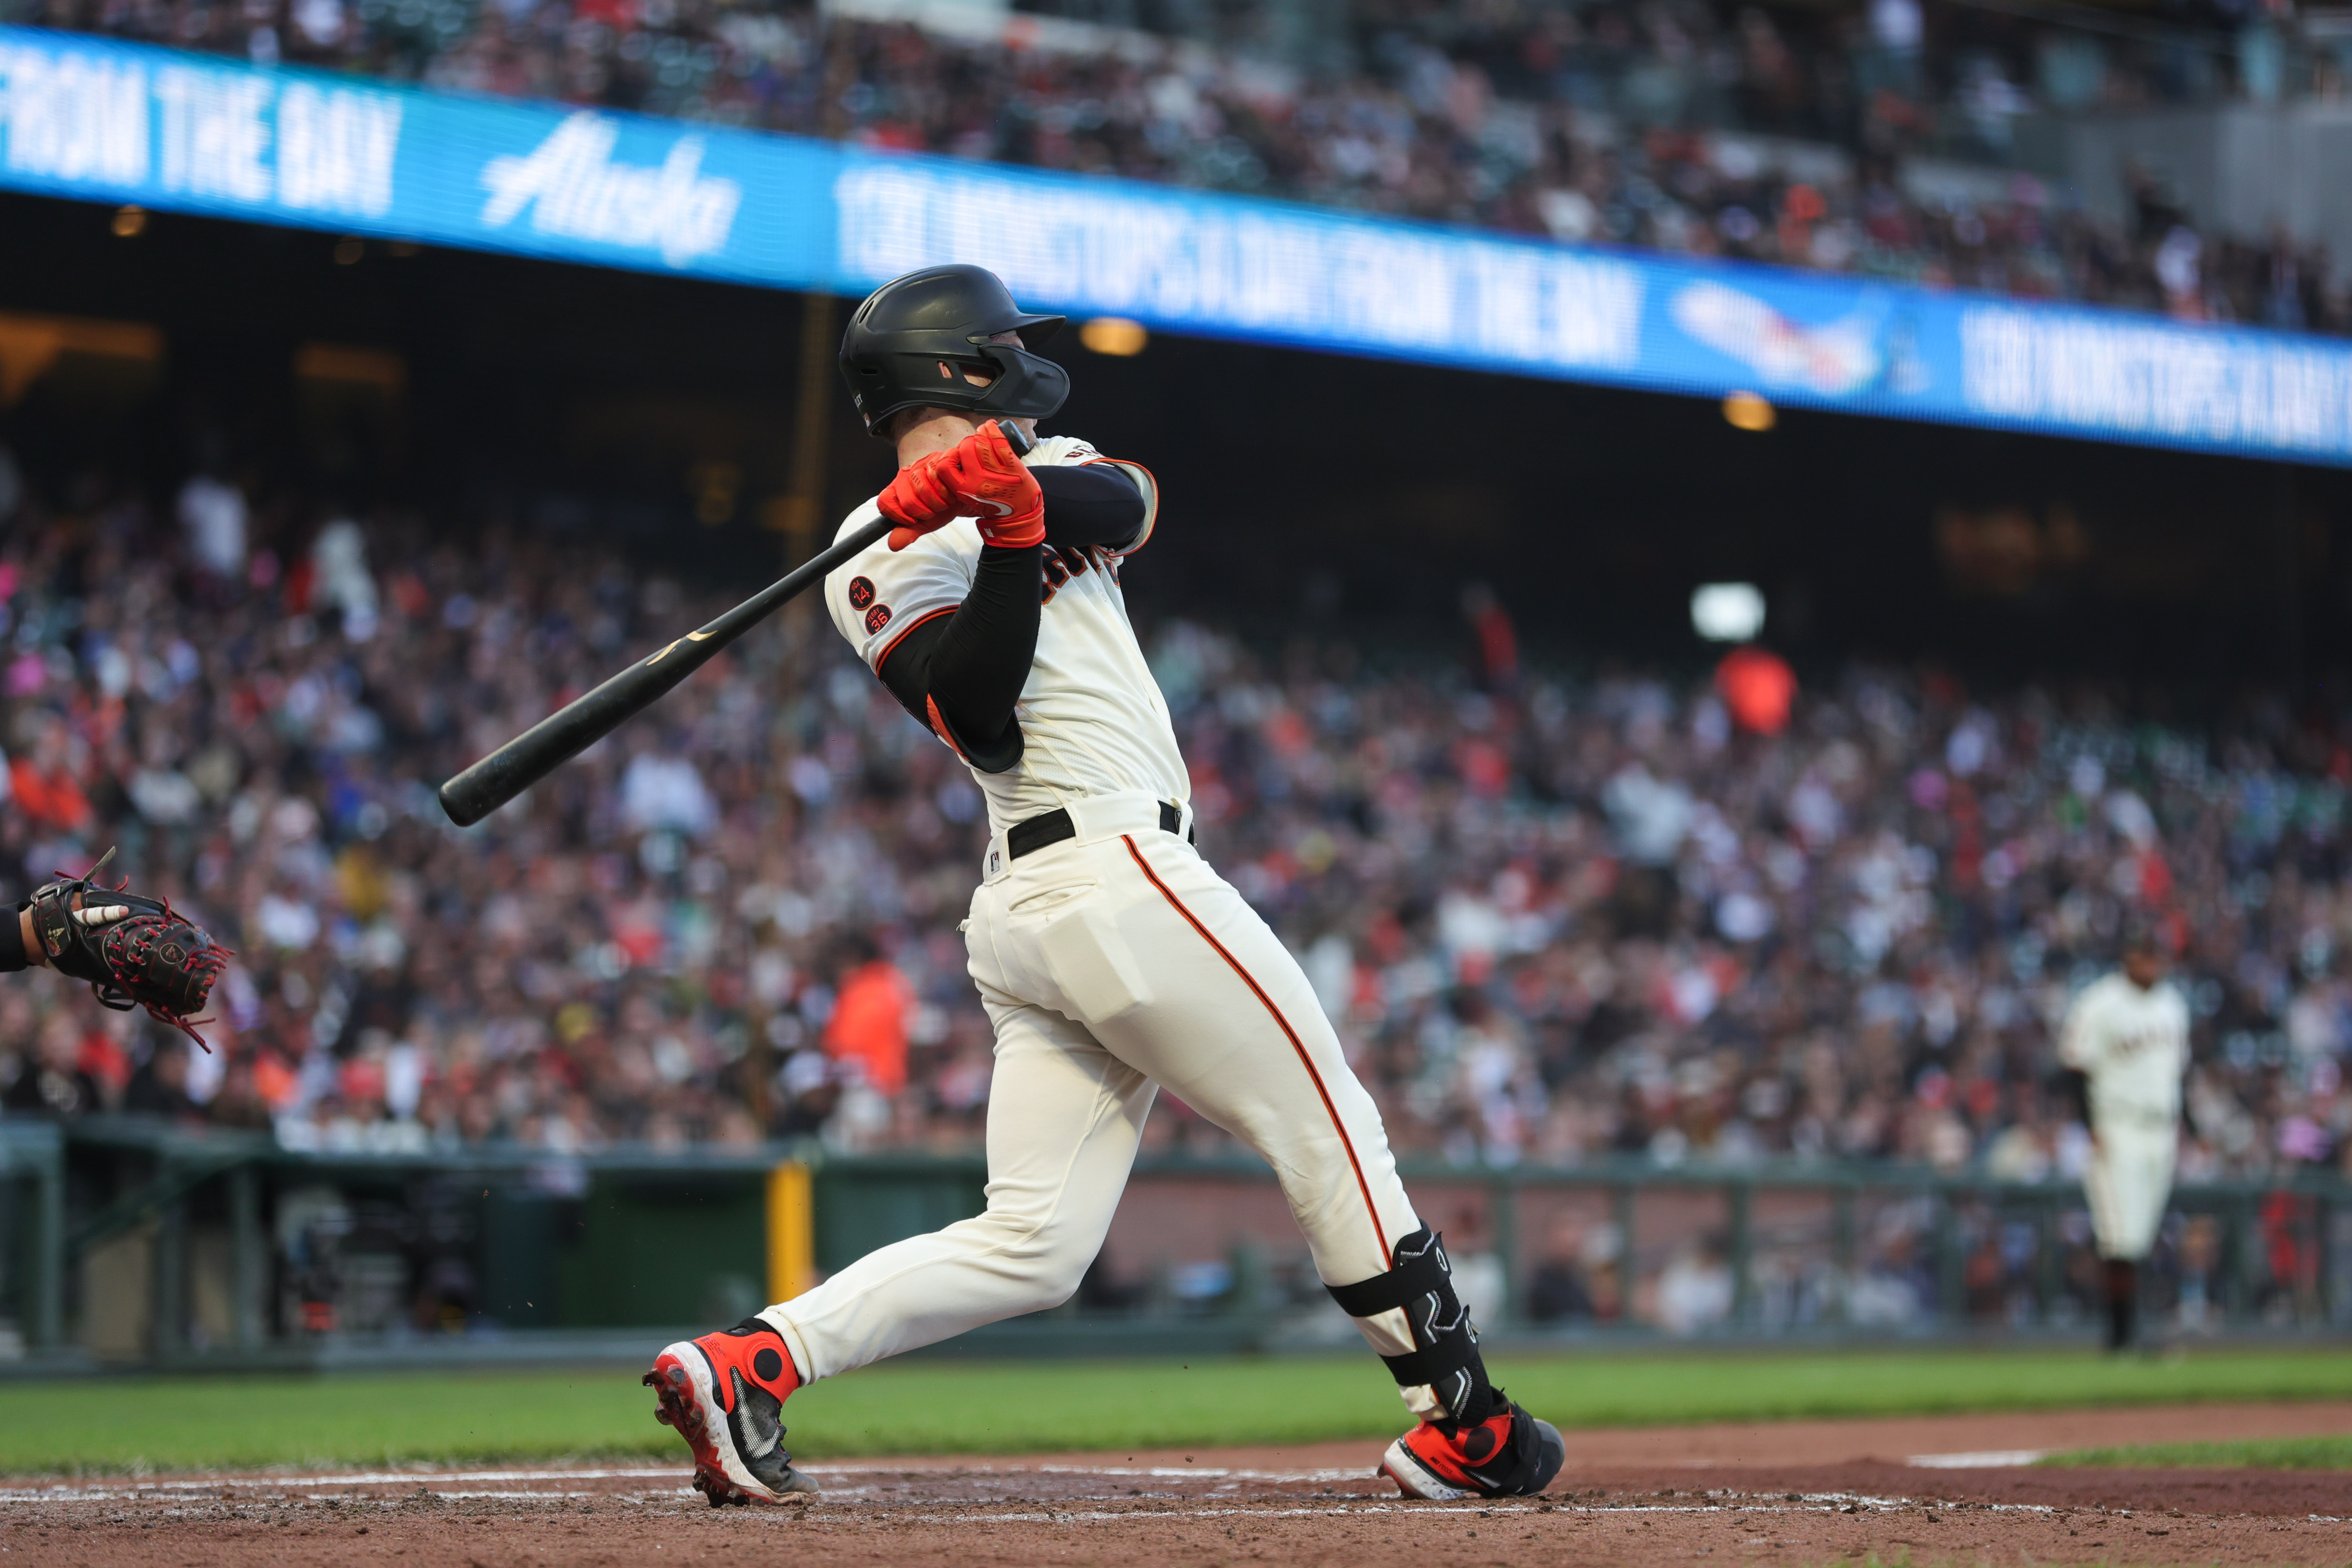
<svg viewBox="0 0 2352 1568">
<path fill-rule="evenodd" d="M 2343 1352 L 1498 1356 L 1512 1396 L 1573 1427 L 2049 1410 L 2197 1399 L 2345 1399 Z M 0 1385 L 0 1472 L 677 1458 L 630 1371 L 381 1378 L 106 1378 Z M 1367 1356 L 901 1361 L 790 1403 L 790 1446 L 873 1453 L 1115 1450 L 1392 1436 L 1404 1410 Z"/>
</svg>

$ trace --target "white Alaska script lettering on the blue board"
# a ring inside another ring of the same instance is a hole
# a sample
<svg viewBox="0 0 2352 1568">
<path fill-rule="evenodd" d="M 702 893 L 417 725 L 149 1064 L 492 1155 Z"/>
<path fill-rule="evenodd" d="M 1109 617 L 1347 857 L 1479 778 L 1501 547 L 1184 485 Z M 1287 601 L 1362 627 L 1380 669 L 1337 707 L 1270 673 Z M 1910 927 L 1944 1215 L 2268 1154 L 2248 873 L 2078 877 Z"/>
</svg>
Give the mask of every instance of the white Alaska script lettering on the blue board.
<svg viewBox="0 0 2352 1568">
<path fill-rule="evenodd" d="M 567 240 L 659 249 L 670 266 L 727 244 L 743 186 L 703 174 L 703 139 L 680 136 L 661 167 L 612 160 L 621 127 L 569 115 L 524 158 L 492 158 L 482 223 L 506 228 L 532 207 L 532 228 Z"/>
</svg>

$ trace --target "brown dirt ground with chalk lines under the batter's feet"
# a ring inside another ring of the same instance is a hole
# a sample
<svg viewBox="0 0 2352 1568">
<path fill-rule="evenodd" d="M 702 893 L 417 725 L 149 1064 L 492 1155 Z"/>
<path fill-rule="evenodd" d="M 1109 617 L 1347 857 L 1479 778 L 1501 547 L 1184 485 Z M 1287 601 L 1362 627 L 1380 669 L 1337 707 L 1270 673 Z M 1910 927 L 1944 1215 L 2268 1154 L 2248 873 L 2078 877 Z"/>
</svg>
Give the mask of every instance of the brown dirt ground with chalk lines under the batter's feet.
<svg viewBox="0 0 2352 1568">
<path fill-rule="evenodd" d="M 2345 1429 L 2338 1403 L 1581 1432 L 1510 1505 L 1404 1502 L 1367 1443 L 814 1465 L 811 1505 L 717 1512 L 670 1467 L 21 1481 L 0 1563 L 2352 1563 L 2343 1474 L 2002 1462 Z"/>
</svg>

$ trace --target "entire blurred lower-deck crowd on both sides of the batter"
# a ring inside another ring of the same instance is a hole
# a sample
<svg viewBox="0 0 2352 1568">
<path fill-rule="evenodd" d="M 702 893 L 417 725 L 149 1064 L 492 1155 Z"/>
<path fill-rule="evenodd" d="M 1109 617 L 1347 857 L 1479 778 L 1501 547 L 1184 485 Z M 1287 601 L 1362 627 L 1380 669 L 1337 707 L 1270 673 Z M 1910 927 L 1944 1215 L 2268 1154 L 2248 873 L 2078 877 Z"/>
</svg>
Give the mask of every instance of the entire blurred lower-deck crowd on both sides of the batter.
<svg viewBox="0 0 2352 1568">
<path fill-rule="evenodd" d="M 238 950 L 209 1053 L 0 985 L 9 1112 L 320 1150 L 976 1143 L 981 795 L 804 607 L 456 830 L 440 778 L 734 595 L 576 538 L 296 531 L 209 475 L 158 515 L 0 461 L 0 522 L 16 896 L 113 844 Z M 2056 1020 L 2138 910 L 2194 1013 L 2185 1173 L 2352 1157 L 2336 736 L 1877 668 L 1752 733 L 1708 682 L 1522 670 L 1508 607 L 1465 607 L 1461 665 L 1148 644 L 1202 849 L 1402 1152 L 2065 1175 Z M 1171 1100 L 1148 1143 L 1225 1147 Z"/>
</svg>

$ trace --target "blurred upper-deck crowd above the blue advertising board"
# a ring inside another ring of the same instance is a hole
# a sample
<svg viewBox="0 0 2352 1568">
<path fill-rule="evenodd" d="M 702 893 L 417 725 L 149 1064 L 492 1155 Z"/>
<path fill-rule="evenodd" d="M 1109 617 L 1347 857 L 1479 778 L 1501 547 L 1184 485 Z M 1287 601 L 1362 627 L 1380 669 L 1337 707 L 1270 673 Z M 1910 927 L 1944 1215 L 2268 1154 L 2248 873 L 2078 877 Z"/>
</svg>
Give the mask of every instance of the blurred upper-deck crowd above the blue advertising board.
<svg viewBox="0 0 2352 1568">
<path fill-rule="evenodd" d="M 771 0 L 16 5 L 47 26 L 473 92 L 1571 242 L 2352 329 L 2324 249 L 2284 230 L 2201 233 L 2145 172 L 2131 172 L 2138 200 L 2117 228 L 1992 172 L 2034 108 L 2340 96 L 2338 54 L 2288 49 L 2291 5 L 2216 0 L 2185 7 L 2173 31 L 2082 31 L 1926 0 L 1369 0 L 1343 35 L 1287 52 L 1068 21 L 1054 33 L 1018 16 L 978 40 Z M 1919 153 L 1976 167 L 1931 172 Z"/>
</svg>

